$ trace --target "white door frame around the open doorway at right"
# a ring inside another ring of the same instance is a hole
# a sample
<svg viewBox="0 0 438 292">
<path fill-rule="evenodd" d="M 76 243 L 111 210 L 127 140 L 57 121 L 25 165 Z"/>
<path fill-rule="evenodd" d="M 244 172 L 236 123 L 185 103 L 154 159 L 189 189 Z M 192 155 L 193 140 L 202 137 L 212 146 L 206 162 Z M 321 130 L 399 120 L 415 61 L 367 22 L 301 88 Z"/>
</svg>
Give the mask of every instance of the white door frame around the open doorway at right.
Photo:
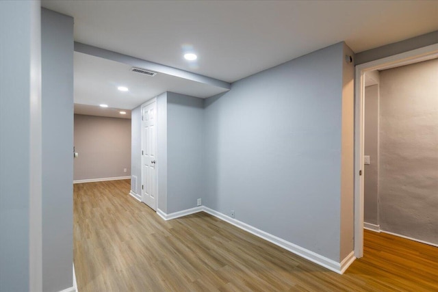
<svg viewBox="0 0 438 292">
<path fill-rule="evenodd" d="M 438 57 L 438 44 L 356 66 L 355 72 L 355 256 L 363 256 L 363 155 L 365 72 L 423 62 Z"/>
</svg>

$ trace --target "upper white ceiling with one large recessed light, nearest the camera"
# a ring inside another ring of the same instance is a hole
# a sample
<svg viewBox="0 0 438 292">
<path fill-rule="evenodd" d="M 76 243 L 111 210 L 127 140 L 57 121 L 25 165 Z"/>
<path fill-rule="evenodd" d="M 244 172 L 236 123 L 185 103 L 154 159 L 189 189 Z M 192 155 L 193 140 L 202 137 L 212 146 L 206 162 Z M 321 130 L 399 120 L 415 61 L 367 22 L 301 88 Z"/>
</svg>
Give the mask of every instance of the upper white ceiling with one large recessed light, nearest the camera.
<svg viewBox="0 0 438 292">
<path fill-rule="evenodd" d="M 360 52 L 438 29 L 438 1 L 42 1 L 75 40 L 236 81 L 345 40 Z M 196 62 L 183 59 L 185 51 Z"/>
</svg>

